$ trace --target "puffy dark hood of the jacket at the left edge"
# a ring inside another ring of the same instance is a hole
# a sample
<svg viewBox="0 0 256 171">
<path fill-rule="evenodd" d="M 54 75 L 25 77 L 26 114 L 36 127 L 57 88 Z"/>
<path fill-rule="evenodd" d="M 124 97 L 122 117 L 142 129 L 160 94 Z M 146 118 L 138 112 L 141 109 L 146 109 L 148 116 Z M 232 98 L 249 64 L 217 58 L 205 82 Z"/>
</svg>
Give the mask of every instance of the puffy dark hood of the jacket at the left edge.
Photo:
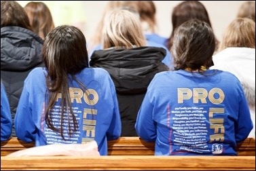
<svg viewBox="0 0 256 171">
<path fill-rule="evenodd" d="M 28 71 L 41 64 L 43 39 L 19 26 L 1 28 L 1 70 Z"/>
</svg>

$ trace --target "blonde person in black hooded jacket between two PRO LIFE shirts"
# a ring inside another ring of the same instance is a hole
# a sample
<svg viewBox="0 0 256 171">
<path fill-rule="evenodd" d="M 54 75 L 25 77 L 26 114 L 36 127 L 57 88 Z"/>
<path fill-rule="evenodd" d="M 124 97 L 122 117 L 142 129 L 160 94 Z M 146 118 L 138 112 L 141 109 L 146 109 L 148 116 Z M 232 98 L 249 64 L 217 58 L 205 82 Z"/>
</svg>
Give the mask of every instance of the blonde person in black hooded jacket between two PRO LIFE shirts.
<svg viewBox="0 0 256 171">
<path fill-rule="evenodd" d="M 115 28 L 115 29 L 113 29 Z M 145 46 L 139 18 L 128 10 L 114 10 L 105 18 L 104 50 L 92 54 L 90 66 L 106 69 L 115 83 L 122 119 L 122 136 L 137 136 L 134 124 L 147 86 L 168 67 L 164 48 Z"/>
</svg>

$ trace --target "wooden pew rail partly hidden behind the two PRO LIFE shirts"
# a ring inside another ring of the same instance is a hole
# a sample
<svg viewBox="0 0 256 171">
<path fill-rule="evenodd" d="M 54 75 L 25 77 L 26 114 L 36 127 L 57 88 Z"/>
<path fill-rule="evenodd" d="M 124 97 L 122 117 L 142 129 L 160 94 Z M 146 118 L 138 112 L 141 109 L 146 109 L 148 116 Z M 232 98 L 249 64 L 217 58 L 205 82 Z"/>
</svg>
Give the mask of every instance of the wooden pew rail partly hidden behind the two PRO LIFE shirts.
<svg viewBox="0 0 256 171">
<path fill-rule="evenodd" d="M 25 143 L 17 138 L 11 138 L 1 142 L 1 156 L 33 146 L 33 142 Z M 108 142 L 109 155 L 153 155 L 154 149 L 153 142 L 145 142 L 139 137 L 120 137 L 118 140 Z M 238 155 L 255 156 L 255 138 L 246 138 L 238 143 L 236 151 Z"/>
</svg>

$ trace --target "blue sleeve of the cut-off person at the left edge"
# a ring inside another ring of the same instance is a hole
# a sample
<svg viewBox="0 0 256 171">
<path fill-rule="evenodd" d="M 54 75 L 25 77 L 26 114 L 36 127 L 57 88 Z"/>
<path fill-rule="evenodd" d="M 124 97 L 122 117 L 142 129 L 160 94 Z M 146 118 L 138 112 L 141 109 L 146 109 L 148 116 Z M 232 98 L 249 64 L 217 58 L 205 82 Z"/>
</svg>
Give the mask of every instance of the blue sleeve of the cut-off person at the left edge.
<svg viewBox="0 0 256 171">
<path fill-rule="evenodd" d="M 12 134 L 12 115 L 5 88 L 1 82 L 1 141 L 7 140 Z"/>
</svg>

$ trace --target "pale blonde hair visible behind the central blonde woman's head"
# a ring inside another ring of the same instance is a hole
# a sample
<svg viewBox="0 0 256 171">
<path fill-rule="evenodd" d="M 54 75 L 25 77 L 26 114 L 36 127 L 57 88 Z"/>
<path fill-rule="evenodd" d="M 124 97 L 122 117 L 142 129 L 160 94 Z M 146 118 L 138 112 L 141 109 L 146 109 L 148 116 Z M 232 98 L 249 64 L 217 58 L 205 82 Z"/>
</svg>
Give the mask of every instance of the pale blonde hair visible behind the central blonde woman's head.
<svg viewBox="0 0 256 171">
<path fill-rule="evenodd" d="M 129 7 L 130 9 L 134 10 L 135 12 L 138 12 L 137 9 L 137 3 L 136 1 L 109 1 L 107 3 L 107 6 L 105 7 L 105 11 L 103 12 L 103 16 L 98 23 L 98 26 L 96 27 L 96 30 L 94 32 L 94 35 L 92 36 L 92 39 L 90 39 L 90 47 L 89 51 L 94 48 L 95 45 L 98 45 L 101 43 L 102 37 L 103 37 L 103 23 L 104 23 L 104 17 L 106 16 L 107 12 L 114 10 L 118 7 Z"/>
</svg>

